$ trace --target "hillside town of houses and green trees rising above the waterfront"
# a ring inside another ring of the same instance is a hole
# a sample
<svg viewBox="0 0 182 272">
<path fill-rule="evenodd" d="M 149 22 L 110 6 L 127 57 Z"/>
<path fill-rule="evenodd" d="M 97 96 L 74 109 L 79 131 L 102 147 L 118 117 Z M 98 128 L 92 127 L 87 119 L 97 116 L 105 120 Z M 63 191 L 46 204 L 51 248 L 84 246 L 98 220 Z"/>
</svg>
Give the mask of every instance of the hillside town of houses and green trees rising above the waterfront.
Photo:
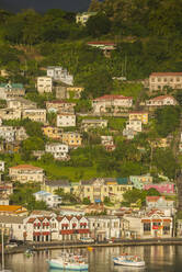
<svg viewBox="0 0 182 272">
<path fill-rule="evenodd" d="M 83 36 L 96 14 L 62 20 Z M 0 61 L 7 245 L 182 238 L 182 68 L 132 69 L 125 42 L 106 33 L 55 47 L 10 34 L 20 63 L 11 48 L 14 60 Z"/>
</svg>

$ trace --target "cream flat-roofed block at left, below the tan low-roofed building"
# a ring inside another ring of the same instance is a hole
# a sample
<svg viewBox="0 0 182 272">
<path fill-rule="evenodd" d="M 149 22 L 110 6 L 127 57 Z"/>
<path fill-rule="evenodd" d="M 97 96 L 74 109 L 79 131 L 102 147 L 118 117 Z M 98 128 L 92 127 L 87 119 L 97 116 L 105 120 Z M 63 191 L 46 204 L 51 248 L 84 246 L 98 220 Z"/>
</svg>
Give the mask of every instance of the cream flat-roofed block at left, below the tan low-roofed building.
<svg viewBox="0 0 182 272">
<path fill-rule="evenodd" d="M 46 110 L 44 110 L 44 109 L 23 110 L 22 117 L 23 118 L 30 118 L 34 122 L 41 122 L 41 123 L 45 124 L 46 123 Z"/>
</svg>

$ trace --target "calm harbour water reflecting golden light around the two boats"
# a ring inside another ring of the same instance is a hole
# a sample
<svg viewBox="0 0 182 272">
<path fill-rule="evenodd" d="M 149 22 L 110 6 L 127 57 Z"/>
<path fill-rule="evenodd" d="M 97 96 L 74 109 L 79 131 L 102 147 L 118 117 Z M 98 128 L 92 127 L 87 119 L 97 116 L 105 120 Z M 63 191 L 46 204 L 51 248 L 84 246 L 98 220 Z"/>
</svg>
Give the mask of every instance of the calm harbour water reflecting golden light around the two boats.
<svg viewBox="0 0 182 272">
<path fill-rule="evenodd" d="M 12 272 L 60 272 L 49 270 L 46 259 L 57 257 L 61 251 L 41 251 L 30 258 L 23 253 L 7 256 L 5 268 L 11 269 Z M 146 261 L 146 268 L 114 267 L 112 258 L 122 252 L 141 256 Z M 78 249 L 77 253 L 88 254 L 89 272 L 182 272 L 182 246 L 96 248 L 91 252 L 88 249 Z"/>
</svg>

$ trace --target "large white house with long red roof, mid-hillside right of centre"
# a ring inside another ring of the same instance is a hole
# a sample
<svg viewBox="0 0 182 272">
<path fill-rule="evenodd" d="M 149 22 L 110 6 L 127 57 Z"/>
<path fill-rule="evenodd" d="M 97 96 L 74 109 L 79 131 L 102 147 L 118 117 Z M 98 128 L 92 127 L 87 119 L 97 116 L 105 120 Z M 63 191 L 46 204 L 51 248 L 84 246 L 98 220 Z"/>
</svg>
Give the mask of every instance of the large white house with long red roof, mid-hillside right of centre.
<svg viewBox="0 0 182 272">
<path fill-rule="evenodd" d="M 105 94 L 92 100 L 94 113 L 118 113 L 133 105 L 133 98 L 120 94 Z"/>
</svg>

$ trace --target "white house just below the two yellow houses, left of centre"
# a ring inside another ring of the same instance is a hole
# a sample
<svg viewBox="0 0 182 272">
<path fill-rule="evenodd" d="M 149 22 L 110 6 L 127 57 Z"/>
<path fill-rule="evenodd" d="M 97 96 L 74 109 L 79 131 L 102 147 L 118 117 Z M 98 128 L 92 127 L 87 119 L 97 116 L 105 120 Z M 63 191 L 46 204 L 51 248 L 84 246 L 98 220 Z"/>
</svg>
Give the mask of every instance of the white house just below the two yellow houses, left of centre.
<svg viewBox="0 0 182 272">
<path fill-rule="evenodd" d="M 50 152 L 55 159 L 67 159 L 68 158 L 68 145 L 52 143 L 45 146 L 45 151 Z"/>
</svg>

